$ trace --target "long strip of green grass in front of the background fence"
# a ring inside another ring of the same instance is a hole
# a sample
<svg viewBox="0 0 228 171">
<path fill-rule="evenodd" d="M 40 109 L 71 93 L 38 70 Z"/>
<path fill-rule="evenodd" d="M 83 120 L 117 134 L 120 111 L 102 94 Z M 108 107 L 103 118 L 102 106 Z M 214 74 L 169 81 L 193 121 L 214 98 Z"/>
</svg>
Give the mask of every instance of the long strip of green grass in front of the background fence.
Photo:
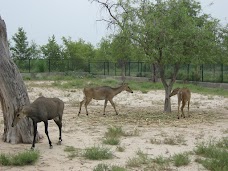
<svg viewBox="0 0 228 171">
<path fill-rule="evenodd" d="M 38 79 L 38 78 L 37 78 Z M 37 80 L 36 79 L 36 80 Z M 74 75 L 57 75 L 57 76 L 49 76 L 44 78 L 39 78 L 38 80 L 49 80 L 49 81 L 55 81 L 52 86 L 59 87 L 59 88 L 84 88 L 86 86 L 103 86 L 108 85 L 111 87 L 117 87 L 120 85 L 121 81 L 115 78 L 95 78 L 88 76 L 74 76 Z M 64 81 L 61 83 L 61 81 Z M 153 83 L 153 82 L 139 82 L 139 81 L 127 81 L 131 89 L 139 90 L 141 92 L 148 92 L 150 90 L 164 90 L 164 86 L 161 82 Z M 202 87 L 195 84 L 182 84 L 182 83 L 175 83 L 174 88 L 176 87 L 188 87 L 192 92 L 209 95 L 210 98 L 213 98 L 213 95 L 220 95 L 224 97 L 228 97 L 228 90 L 222 89 L 222 88 L 208 88 L 208 87 Z"/>
</svg>

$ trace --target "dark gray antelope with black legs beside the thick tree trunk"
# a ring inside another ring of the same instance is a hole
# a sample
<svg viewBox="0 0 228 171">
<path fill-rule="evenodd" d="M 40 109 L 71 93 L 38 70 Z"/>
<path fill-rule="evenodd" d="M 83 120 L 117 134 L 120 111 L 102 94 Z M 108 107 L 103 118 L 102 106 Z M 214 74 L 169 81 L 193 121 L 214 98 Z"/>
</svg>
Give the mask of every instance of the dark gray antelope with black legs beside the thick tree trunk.
<svg viewBox="0 0 228 171">
<path fill-rule="evenodd" d="M 48 120 L 54 120 L 59 127 L 59 142 L 62 142 L 62 116 L 64 110 L 64 103 L 58 98 L 46 98 L 39 97 L 33 103 L 28 106 L 24 106 L 22 110 L 14 116 L 12 127 L 14 127 L 18 121 L 24 117 L 31 118 L 33 121 L 34 138 L 31 149 L 35 148 L 35 139 L 37 134 L 37 123 L 44 122 L 45 133 L 47 135 L 49 146 L 52 148 L 52 143 L 48 135 Z"/>
</svg>

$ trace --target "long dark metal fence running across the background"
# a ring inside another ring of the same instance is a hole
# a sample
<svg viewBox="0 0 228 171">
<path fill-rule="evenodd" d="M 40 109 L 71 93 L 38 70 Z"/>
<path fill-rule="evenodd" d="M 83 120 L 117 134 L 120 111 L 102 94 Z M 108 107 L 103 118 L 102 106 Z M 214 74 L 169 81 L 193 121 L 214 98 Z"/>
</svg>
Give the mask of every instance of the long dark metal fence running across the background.
<svg viewBox="0 0 228 171">
<path fill-rule="evenodd" d="M 83 61 L 67 59 L 27 59 L 15 60 L 21 73 L 44 73 L 44 72 L 87 72 L 92 75 L 110 75 L 132 77 L 148 77 L 156 72 L 159 77 L 158 68 L 144 61 L 120 63 L 108 61 Z M 173 67 L 167 65 L 165 68 L 166 78 L 170 78 Z M 203 65 L 182 65 L 179 69 L 178 80 L 228 83 L 228 65 L 203 64 Z"/>
</svg>

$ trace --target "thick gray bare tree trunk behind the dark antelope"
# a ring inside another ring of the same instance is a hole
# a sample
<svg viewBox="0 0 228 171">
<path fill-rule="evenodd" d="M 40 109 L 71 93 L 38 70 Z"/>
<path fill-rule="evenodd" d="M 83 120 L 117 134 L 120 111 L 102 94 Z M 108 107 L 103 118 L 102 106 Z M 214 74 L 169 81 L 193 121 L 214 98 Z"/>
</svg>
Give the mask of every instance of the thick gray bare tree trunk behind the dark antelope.
<svg viewBox="0 0 228 171">
<path fill-rule="evenodd" d="M 14 115 L 22 106 L 29 104 L 29 97 L 17 66 L 10 58 L 6 25 L 0 16 L 0 101 L 4 119 L 3 141 L 9 143 L 31 143 L 32 122 L 21 120 L 12 127 Z"/>
</svg>

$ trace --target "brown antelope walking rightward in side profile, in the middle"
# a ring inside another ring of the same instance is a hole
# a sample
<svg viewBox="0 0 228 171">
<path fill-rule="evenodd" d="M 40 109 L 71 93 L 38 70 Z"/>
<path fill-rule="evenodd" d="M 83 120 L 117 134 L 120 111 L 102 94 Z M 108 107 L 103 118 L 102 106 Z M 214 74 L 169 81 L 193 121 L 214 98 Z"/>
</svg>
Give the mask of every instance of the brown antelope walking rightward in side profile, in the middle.
<svg viewBox="0 0 228 171">
<path fill-rule="evenodd" d="M 104 115 L 105 115 L 105 108 L 107 106 L 108 101 L 111 103 L 112 107 L 115 109 L 116 114 L 118 115 L 118 112 L 116 111 L 116 107 L 115 107 L 115 104 L 112 99 L 114 96 L 116 96 L 117 94 L 121 93 L 124 90 L 126 90 L 127 92 L 130 92 L 130 93 L 133 93 L 133 91 L 130 89 L 130 87 L 126 83 L 122 84 L 121 86 L 119 86 L 117 88 L 112 88 L 109 86 L 84 88 L 84 90 L 83 90 L 84 99 L 80 102 L 78 116 L 81 113 L 81 107 L 83 104 L 85 104 L 86 115 L 88 115 L 87 106 L 92 99 L 105 100 Z"/>
</svg>

